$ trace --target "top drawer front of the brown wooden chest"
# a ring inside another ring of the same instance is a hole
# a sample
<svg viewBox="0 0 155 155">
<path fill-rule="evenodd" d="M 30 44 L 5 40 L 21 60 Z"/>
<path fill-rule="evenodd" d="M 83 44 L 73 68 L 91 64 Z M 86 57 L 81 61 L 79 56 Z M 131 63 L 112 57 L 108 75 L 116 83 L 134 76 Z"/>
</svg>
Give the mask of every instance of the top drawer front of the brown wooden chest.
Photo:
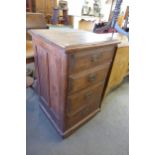
<svg viewBox="0 0 155 155">
<path fill-rule="evenodd" d="M 110 62 L 113 58 L 114 50 L 114 46 L 104 46 L 75 51 L 69 55 L 69 73 L 78 73 L 85 69 Z"/>
</svg>

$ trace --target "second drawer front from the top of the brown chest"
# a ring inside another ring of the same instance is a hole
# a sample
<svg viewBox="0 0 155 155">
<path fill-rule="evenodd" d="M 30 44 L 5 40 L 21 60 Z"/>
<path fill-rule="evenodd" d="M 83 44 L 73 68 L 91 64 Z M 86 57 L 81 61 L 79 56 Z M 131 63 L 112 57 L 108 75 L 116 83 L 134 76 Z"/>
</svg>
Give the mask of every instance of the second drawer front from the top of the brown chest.
<svg viewBox="0 0 155 155">
<path fill-rule="evenodd" d="M 68 93 L 75 93 L 79 90 L 85 89 L 92 84 L 102 82 L 104 84 L 110 64 L 99 66 L 85 72 L 69 76 Z"/>
</svg>

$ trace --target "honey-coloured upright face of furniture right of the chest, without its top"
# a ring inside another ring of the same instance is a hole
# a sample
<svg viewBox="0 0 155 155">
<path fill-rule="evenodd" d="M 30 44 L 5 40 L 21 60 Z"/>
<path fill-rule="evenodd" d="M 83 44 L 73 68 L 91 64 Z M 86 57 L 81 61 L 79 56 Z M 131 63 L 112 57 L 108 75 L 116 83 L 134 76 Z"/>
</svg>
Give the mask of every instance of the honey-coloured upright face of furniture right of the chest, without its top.
<svg viewBox="0 0 155 155">
<path fill-rule="evenodd" d="M 129 69 L 129 47 L 119 47 L 112 66 L 111 75 L 106 88 L 106 94 L 117 87 L 128 74 Z"/>
</svg>

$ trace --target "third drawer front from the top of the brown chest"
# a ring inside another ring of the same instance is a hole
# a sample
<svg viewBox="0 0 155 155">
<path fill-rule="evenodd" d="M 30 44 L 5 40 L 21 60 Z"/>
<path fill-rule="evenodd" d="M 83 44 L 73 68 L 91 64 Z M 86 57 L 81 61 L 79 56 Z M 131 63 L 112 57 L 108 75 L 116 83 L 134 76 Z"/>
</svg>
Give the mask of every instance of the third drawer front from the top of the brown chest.
<svg viewBox="0 0 155 155">
<path fill-rule="evenodd" d="M 103 91 L 103 84 L 93 85 L 79 93 L 68 96 L 67 109 L 69 114 L 76 113 L 88 104 L 99 104 Z"/>
</svg>

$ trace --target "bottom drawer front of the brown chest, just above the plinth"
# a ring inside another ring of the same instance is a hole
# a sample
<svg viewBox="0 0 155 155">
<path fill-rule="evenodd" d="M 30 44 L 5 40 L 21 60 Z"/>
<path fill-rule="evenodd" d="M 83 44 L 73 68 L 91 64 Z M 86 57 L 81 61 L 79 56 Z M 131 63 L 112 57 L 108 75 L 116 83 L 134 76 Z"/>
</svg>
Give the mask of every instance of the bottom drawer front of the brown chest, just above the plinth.
<svg viewBox="0 0 155 155">
<path fill-rule="evenodd" d="M 87 117 L 89 114 L 94 112 L 96 109 L 99 108 L 99 104 L 89 104 L 88 106 L 84 107 L 81 111 L 77 112 L 74 115 L 68 115 L 67 117 L 67 127 L 72 127 L 76 123 L 80 122 L 82 119 Z"/>
</svg>

